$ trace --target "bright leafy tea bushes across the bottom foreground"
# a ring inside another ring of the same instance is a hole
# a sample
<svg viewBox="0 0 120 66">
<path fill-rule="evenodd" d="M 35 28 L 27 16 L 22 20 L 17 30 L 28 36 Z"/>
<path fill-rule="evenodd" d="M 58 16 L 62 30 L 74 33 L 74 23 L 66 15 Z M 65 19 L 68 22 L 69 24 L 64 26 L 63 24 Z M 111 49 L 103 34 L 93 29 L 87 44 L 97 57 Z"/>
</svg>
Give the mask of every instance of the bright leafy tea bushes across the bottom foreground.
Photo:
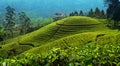
<svg viewBox="0 0 120 66">
<path fill-rule="evenodd" d="M 22 57 L 0 59 L 7 66 L 119 66 L 120 44 L 86 44 L 66 49 L 54 48 L 47 55 L 24 54 Z"/>
</svg>

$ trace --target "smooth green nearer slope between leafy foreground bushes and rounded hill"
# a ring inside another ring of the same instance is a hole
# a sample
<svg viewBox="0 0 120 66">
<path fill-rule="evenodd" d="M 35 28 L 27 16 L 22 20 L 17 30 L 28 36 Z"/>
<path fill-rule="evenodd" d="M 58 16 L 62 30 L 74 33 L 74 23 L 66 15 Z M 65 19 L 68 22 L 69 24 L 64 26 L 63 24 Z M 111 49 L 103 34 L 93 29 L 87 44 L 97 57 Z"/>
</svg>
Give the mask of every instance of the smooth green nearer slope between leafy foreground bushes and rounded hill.
<svg viewBox="0 0 120 66">
<path fill-rule="evenodd" d="M 117 30 L 85 32 L 85 33 L 79 33 L 68 37 L 64 37 L 59 40 L 55 40 L 46 45 L 28 50 L 25 53 L 46 54 L 47 52 L 49 52 L 49 50 L 53 48 L 62 48 L 62 49 L 66 49 L 68 47 L 82 48 L 85 44 L 115 45 L 119 43 L 120 43 L 120 33 Z"/>
</svg>

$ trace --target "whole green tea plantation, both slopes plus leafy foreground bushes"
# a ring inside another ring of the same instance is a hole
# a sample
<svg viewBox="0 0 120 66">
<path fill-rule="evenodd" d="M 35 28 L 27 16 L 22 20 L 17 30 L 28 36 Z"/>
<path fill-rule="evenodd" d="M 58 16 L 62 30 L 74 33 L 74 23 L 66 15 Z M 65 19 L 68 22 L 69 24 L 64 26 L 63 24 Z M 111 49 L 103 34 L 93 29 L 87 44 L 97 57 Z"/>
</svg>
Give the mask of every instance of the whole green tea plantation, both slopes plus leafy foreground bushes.
<svg viewBox="0 0 120 66">
<path fill-rule="evenodd" d="M 0 64 L 119 66 L 120 33 L 107 29 L 103 25 L 104 21 L 89 17 L 68 17 L 32 33 L 6 40 L 4 44 L 1 42 Z M 11 56 L 15 57 L 3 59 Z"/>
</svg>

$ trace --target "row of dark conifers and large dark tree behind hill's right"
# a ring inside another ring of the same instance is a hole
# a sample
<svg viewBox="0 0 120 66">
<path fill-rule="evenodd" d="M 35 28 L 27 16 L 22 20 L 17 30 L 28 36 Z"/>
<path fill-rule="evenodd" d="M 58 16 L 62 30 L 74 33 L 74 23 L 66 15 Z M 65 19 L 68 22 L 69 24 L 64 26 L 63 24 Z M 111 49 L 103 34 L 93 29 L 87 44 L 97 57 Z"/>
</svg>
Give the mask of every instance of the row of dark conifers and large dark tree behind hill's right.
<svg viewBox="0 0 120 66">
<path fill-rule="evenodd" d="M 103 0 L 106 12 L 96 8 L 91 9 L 88 13 L 74 11 L 69 16 L 89 16 L 93 18 L 107 19 L 107 26 L 113 29 L 120 29 L 120 0 Z"/>
</svg>

